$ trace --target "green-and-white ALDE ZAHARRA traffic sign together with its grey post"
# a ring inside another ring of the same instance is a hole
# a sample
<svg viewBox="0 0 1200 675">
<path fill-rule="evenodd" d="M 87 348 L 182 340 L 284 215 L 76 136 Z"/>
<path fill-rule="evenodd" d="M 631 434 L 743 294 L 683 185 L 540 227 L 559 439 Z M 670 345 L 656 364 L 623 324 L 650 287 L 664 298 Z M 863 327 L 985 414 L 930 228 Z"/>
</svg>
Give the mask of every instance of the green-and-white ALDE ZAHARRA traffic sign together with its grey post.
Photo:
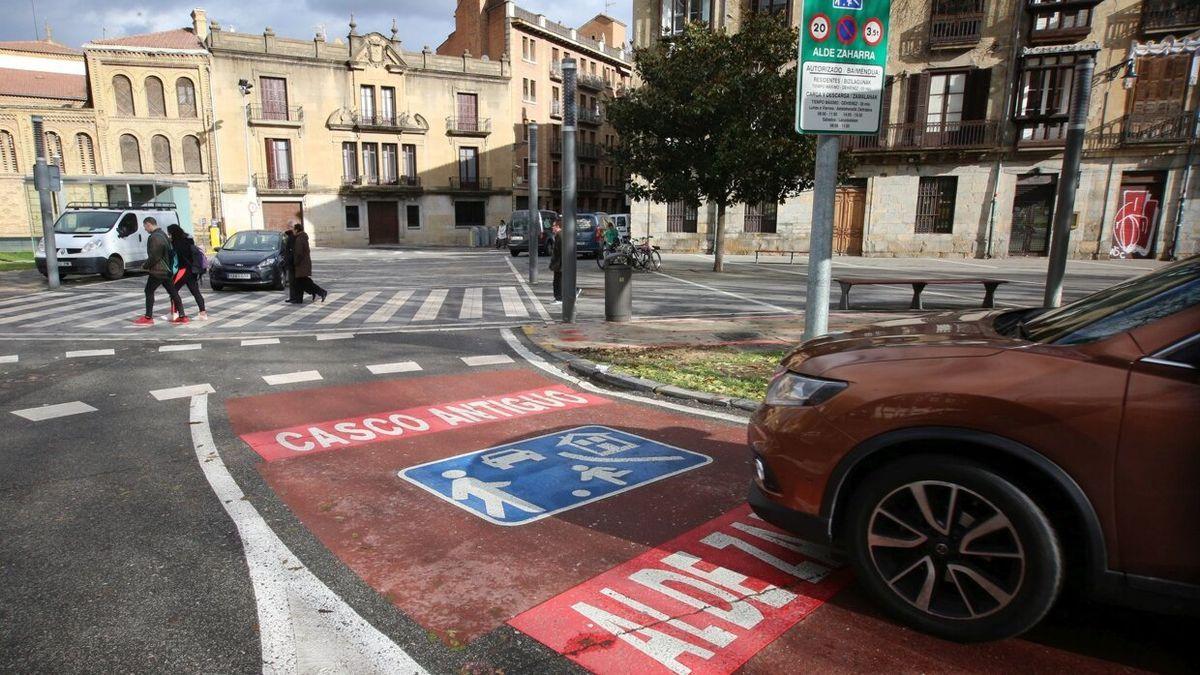
<svg viewBox="0 0 1200 675">
<path fill-rule="evenodd" d="M 805 0 L 796 131 L 817 135 L 804 339 L 829 330 L 839 136 L 880 132 L 892 0 Z"/>
</svg>

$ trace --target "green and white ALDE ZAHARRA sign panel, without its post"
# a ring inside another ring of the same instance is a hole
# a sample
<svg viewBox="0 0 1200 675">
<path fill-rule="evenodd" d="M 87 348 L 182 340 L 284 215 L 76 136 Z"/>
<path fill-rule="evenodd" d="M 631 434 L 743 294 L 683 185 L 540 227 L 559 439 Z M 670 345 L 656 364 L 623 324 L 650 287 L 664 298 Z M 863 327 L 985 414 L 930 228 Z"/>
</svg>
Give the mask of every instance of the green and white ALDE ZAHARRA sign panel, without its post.
<svg viewBox="0 0 1200 675">
<path fill-rule="evenodd" d="M 804 1 L 796 131 L 880 131 L 890 11 L 892 0 Z"/>
</svg>

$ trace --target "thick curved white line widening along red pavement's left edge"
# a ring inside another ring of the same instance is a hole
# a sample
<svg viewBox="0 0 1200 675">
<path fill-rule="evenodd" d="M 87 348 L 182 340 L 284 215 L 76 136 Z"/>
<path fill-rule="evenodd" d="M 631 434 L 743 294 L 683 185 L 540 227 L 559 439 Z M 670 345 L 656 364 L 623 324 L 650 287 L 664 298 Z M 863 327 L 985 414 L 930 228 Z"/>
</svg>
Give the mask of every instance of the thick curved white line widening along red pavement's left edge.
<svg viewBox="0 0 1200 675">
<path fill-rule="evenodd" d="M 200 470 L 238 527 L 246 554 L 263 671 L 424 675 L 420 664 L 317 579 L 263 520 L 212 441 L 206 394 L 192 398 L 188 425 Z"/>
</svg>

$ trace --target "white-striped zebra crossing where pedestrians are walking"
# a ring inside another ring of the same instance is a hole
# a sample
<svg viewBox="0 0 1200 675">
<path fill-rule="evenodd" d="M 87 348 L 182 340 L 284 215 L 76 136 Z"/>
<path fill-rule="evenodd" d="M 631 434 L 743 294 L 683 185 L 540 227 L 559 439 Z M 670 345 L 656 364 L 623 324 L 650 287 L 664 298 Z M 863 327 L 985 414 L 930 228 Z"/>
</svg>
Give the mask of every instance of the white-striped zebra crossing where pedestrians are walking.
<svg viewBox="0 0 1200 675">
<path fill-rule="evenodd" d="M 192 323 L 157 321 L 138 329 L 132 319 L 144 310 L 136 292 L 38 293 L 0 303 L 0 336 L 296 333 L 311 330 L 403 330 L 430 327 L 516 325 L 538 315 L 536 299 L 517 286 L 384 288 L 331 291 L 322 301 L 284 303 L 282 293 L 208 293 L 208 321 L 196 318 L 196 304 L 184 295 Z M 157 319 L 168 311 L 164 294 Z"/>
</svg>

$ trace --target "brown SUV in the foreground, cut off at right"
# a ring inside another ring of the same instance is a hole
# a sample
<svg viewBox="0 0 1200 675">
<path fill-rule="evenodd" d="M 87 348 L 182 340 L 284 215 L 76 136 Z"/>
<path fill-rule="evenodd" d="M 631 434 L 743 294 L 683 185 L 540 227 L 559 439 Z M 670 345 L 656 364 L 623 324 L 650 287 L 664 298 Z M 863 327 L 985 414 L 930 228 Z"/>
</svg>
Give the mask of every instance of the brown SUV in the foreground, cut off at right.
<svg viewBox="0 0 1200 675">
<path fill-rule="evenodd" d="M 1200 608 L 1200 257 L 1055 310 L 810 340 L 749 429 L 755 512 L 845 549 L 894 616 L 961 641 L 1060 589 Z"/>
</svg>

